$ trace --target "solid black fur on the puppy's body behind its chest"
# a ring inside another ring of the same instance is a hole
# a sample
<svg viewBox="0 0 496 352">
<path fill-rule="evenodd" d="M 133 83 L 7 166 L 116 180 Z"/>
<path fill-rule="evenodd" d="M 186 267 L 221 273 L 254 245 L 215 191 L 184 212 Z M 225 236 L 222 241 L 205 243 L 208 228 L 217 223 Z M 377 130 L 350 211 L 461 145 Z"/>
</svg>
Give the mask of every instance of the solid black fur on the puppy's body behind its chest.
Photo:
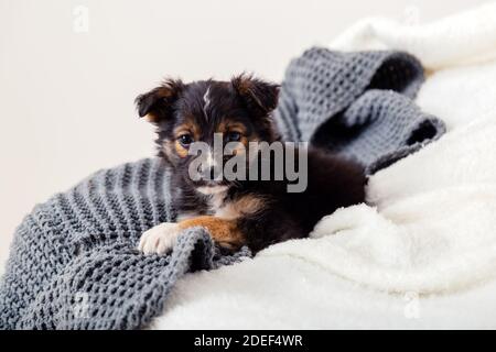
<svg viewBox="0 0 496 352">
<path fill-rule="evenodd" d="M 309 235 L 326 215 L 341 207 L 365 201 L 364 169 L 355 163 L 310 148 L 308 187 L 288 193 L 289 182 L 246 182 L 241 191 L 262 195 L 268 207 L 260 213 L 240 219 L 239 227 L 254 251 Z M 236 197 L 239 190 L 233 191 Z"/>
</svg>

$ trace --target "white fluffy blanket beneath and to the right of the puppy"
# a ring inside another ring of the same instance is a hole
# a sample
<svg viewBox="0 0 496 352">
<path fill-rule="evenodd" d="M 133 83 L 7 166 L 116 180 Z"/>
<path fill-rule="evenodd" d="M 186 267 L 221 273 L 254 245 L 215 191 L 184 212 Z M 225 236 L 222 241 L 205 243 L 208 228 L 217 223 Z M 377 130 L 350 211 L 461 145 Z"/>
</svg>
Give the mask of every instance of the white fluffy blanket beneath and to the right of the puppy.
<svg viewBox="0 0 496 352">
<path fill-rule="evenodd" d="M 375 207 L 187 275 L 154 328 L 496 328 L 496 3 L 422 25 L 367 19 L 331 46 L 417 55 L 418 103 L 449 133 L 374 175 Z"/>
</svg>

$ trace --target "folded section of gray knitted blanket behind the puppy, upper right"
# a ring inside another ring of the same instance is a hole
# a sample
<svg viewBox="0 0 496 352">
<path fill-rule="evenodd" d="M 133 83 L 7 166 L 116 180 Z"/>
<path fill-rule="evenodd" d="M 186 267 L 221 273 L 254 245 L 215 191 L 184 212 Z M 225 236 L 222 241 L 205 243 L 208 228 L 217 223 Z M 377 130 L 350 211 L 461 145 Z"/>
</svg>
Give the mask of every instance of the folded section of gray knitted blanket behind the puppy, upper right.
<svg viewBox="0 0 496 352">
<path fill-rule="evenodd" d="M 313 47 L 289 65 L 276 122 L 285 141 L 324 146 L 373 174 L 445 132 L 411 100 L 422 82 L 406 53 Z"/>
</svg>

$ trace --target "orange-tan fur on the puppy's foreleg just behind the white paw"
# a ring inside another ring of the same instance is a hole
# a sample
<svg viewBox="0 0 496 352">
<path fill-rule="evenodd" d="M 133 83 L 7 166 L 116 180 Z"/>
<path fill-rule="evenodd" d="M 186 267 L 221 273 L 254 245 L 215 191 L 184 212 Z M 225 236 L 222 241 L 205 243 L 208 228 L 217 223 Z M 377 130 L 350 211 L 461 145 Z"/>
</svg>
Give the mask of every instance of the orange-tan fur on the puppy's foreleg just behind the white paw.
<svg viewBox="0 0 496 352">
<path fill-rule="evenodd" d="M 177 224 L 180 230 L 203 227 L 208 230 L 215 242 L 228 249 L 238 249 L 244 244 L 242 234 L 237 228 L 236 220 L 204 216 L 187 219 Z"/>
</svg>

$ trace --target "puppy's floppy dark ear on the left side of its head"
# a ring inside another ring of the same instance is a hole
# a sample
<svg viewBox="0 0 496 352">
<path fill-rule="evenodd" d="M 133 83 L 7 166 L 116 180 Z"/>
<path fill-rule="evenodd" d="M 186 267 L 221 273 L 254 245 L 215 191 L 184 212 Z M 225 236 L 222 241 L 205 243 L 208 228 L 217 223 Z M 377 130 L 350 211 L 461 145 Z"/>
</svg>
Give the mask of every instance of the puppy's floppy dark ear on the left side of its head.
<svg viewBox="0 0 496 352">
<path fill-rule="evenodd" d="M 136 98 L 140 118 L 145 117 L 148 121 L 159 123 L 170 119 L 174 112 L 173 105 L 184 89 L 179 79 L 166 79 L 160 87 Z"/>
</svg>

